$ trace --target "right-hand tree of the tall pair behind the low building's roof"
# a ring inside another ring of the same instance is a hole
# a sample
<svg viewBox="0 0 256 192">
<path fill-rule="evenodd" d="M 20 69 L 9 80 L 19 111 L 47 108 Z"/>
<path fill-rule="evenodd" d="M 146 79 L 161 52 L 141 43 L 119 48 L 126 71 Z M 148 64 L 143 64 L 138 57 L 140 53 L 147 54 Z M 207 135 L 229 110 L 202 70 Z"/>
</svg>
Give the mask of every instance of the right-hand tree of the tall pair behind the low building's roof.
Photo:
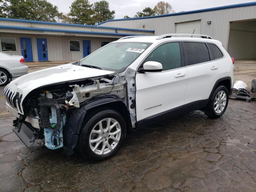
<svg viewBox="0 0 256 192">
<path fill-rule="evenodd" d="M 93 11 L 93 20 L 96 23 L 115 18 L 115 11 L 110 11 L 109 3 L 105 0 L 95 2 L 93 6 Z"/>
</svg>

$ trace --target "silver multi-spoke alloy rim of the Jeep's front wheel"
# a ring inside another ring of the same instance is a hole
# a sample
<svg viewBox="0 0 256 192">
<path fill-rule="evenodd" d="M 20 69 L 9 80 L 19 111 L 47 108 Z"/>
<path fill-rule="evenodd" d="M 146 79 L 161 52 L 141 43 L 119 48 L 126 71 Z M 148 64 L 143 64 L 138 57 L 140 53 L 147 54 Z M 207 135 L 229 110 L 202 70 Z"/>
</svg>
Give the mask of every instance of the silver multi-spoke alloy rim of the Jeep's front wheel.
<svg viewBox="0 0 256 192">
<path fill-rule="evenodd" d="M 120 138 L 121 126 L 118 121 L 113 118 L 106 118 L 98 122 L 92 129 L 89 145 L 92 152 L 104 155 L 116 148 Z"/>
</svg>

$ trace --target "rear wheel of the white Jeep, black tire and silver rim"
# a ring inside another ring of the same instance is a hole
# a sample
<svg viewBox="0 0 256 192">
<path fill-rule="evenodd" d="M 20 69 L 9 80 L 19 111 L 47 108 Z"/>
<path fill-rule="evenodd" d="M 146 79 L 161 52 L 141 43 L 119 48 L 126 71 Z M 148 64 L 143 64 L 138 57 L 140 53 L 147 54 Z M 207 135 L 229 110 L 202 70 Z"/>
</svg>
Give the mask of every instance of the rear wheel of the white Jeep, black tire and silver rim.
<svg viewBox="0 0 256 192">
<path fill-rule="evenodd" d="M 218 86 L 204 109 L 204 114 L 210 118 L 219 118 L 228 106 L 228 90 L 225 86 Z"/>
</svg>

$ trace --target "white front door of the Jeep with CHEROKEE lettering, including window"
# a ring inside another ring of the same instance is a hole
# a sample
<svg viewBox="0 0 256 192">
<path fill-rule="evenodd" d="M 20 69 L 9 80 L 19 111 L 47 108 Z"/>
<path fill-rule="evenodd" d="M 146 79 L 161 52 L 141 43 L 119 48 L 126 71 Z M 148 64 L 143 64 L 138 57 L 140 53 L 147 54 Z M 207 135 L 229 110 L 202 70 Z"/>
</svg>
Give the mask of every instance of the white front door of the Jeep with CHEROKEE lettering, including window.
<svg viewBox="0 0 256 192">
<path fill-rule="evenodd" d="M 186 95 L 188 77 L 179 42 L 158 46 L 147 61 L 160 62 L 163 71 L 136 74 L 137 122 L 181 112 Z"/>
</svg>

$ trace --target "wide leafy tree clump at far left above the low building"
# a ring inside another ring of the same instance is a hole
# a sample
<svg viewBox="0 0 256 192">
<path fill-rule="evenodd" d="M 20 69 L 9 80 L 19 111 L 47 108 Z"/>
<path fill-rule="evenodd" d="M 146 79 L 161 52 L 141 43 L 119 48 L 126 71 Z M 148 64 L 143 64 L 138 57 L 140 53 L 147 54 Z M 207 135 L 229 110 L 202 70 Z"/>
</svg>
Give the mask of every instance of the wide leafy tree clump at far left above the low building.
<svg viewBox="0 0 256 192">
<path fill-rule="evenodd" d="M 1 0 L 0 16 L 56 22 L 58 7 L 46 0 Z"/>
</svg>

